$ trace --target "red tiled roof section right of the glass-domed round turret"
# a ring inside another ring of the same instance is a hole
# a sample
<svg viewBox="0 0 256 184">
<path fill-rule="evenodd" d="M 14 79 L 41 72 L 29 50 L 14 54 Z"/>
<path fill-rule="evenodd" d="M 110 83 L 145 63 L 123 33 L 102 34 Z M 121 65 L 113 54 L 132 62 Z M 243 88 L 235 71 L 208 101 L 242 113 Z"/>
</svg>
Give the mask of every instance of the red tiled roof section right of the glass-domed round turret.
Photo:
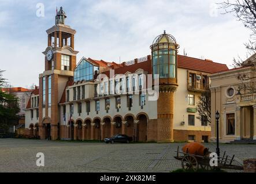
<svg viewBox="0 0 256 184">
<path fill-rule="evenodd" d="M 188 56 L 177 56 L 178 68 L 185 68 L 188 70 L 202 71 L 213 74 L 215 72 L 228 70 L 226 64 L 214 63 L 210 60 L 202 60 Z"/>
</svg>

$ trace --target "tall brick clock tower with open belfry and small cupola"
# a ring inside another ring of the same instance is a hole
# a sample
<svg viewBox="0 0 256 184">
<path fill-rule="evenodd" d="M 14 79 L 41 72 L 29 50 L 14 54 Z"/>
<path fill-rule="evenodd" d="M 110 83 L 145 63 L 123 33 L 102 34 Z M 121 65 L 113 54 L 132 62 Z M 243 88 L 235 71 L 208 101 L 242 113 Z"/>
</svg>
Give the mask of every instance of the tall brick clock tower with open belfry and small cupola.
<svg viewBox="0 0 256 184">
<path fill-rule="evenodd" d="M 39 74 L 39 135 L 40 139 L 60 138 L 58 103 L 66 82 L 73 78 L 76 67 L 74 36 L 76 30 L 65 25 L 66 13 L 60 7 L 55 25 L 47 29 L 48 44 L 43 52 L 44 72 Z"/>
</svg>

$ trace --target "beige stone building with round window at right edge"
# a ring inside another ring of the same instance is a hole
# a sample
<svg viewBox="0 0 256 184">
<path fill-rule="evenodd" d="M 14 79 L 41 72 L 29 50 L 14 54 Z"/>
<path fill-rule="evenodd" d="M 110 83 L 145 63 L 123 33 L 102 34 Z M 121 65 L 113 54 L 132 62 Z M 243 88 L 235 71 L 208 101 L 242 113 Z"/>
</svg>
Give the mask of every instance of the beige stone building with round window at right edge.
<svg viewBox="0 0 256 184">
<path fill-rule="evenodd" d="M 221 142 L 256 140 L 256 55 L 243 66 L 216 72 L 211 78 L 212 139 L 216 139 L 215 113 L 220 112 Z"/>
</svg>

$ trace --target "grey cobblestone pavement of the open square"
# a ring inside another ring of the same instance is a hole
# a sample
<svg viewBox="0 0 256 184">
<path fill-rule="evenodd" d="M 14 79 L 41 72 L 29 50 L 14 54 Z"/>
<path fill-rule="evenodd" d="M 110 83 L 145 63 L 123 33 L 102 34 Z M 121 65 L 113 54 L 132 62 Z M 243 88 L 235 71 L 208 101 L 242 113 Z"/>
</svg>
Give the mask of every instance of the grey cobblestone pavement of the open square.
<svg viewBox="0 0 256 184">
<path fill-rule="evenodd" d="M 105 144 L 70 141 L 0 139 L 0 172 L 169 172 L 180 168 L 173 158 L 184 143 Z M 210 151 L 216 145 L 205 144 Z M 220 144 L 236 159 L 256 157 L 256 145 Z M 36 166 L 43 152 L 45 166 Z"/>
</svg>

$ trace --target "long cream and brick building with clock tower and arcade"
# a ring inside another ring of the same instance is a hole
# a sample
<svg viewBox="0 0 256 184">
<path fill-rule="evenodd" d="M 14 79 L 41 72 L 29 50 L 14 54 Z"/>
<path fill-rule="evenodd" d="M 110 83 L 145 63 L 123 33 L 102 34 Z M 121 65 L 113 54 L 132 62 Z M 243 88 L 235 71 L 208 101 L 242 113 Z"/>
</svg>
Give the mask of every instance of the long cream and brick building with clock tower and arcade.
<svg viewBox="0 0 256 184">
<path fill-rule="evenodd" d="M 45 68 L 39 93 L 31 95 L 39 101 L 26 109 L 28 133 L 52 140 L 103 140 L 118 133 L 135 141 L 209 139 L 211 127 L 196 118 L 196 102 L 209 75 L 227 70 L 225 64 L 177 55 L 179 45 L 166 32 L 154 39 L 148 56 L 122 63 L 82 57 L 76 64 L 76 30 L 65 18 L 61 7 L 46 30 Z"/>
</svg>

